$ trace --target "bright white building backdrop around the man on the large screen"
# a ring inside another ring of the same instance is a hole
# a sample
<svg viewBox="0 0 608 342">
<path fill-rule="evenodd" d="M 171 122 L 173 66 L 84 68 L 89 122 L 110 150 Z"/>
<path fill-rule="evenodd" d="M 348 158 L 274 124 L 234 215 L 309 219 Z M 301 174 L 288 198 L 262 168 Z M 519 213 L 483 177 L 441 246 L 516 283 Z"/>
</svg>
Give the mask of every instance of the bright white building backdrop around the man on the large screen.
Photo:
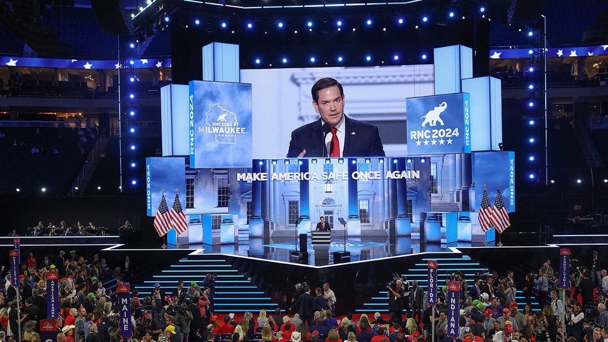
<svg viewBox="0 0 608 342">
<path fill-rule="evenodd" d="M 378 126 L 387 156 L 407 155 L 406 99 L 433 95 L 433 65 L 241 70 L 252 85 L 253 156 L 285 158 L 291 132 L 319 119 L 311 87 L 332 77 L 344 87 L 344 113 Z"/>
</svg>

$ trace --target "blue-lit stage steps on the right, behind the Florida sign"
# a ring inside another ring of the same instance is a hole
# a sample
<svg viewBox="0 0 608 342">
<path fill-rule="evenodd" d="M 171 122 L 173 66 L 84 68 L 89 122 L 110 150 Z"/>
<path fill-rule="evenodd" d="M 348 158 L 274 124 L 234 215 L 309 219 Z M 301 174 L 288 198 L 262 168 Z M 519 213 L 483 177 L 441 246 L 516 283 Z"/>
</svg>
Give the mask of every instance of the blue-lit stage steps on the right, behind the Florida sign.
<svg viewBox="0 0 608 342">
<path fill-rule="evenodd" d="M 445 253 L 425 253 L 420 257 L 419 260 L 416 260 L 414 267 L 401 273 L 402 276 L 407 277 L 407 281 L 410 283 L 410 288 L 412 287 L 412 282 L 415 280 L 426 292 L 428 283 L 427 261 L 429 260 L 437 260 L 437 284 L 439 287 L 447 285 L 446 281 L 448 277 L 450 277 L 451 274 L 455 273 L 456 271 L 461 271 L 465 274 L 465 280 L 468 282 L 469 286 L 474 284 L 474 279 L 478 277 L 478 274 L 488 271 L 488 268 L 485 265 L 482 265 L 482 263 L 477 262 L 476 260 L 471 259 L 470 256 L 460 252 L 448 251 Z M 505 272 L 499 273 L 500 277 L 504 277 L 505 275 Z M 482 278 L 483 277 L 485 276 L 482 276 Z M 517 279 L 516 282 L 519 282 L 517 285 L 522 284 L 521 279 Z M 389 304 L 386 294 L 387 291 L 385 290 L 379 291 L 378 296 L 371 297 L 368 301 L 364 302 L 364 309 L 358 309 L 355 311 L 359 313 L 369 313 L 372 311 L 378 311 L 381 313 L 388 312 Z M 522 306 L 520 307 L 520 310 L 523 309 L 523 294 L 519 288 L 517 289 L 516 300 L 518 304 Z M 539 308 L 535 298 L 532 299 L 532 305 L 533 309 Z"/>
</svg>

